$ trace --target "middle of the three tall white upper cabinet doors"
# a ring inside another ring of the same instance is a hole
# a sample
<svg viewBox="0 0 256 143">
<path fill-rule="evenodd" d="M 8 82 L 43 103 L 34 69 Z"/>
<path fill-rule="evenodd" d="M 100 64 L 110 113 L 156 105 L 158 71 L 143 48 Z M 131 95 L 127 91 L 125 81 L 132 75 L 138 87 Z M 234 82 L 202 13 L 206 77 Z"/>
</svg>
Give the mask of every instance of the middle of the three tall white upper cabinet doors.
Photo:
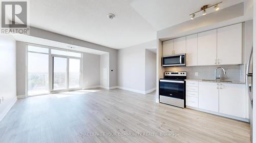
<svg viewBox="0 0 256 143">
<path fill-rule="evenodd" d="M 198 65 L 216 65 L 217 30 L 198 33 Z"/>
</svg>

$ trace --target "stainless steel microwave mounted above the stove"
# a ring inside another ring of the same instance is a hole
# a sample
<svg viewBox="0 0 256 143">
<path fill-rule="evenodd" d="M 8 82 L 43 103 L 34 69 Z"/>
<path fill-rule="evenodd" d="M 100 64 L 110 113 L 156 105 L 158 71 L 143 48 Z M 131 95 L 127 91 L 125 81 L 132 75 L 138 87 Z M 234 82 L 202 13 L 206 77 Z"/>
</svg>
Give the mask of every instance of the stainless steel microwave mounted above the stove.
<svg viewBox="0 0 256 143">
<path fill-rule="evenodd" d="M 163 67 L 186 66 L 186 54 L 173 54 L 162 57 Z"/>
</svg>

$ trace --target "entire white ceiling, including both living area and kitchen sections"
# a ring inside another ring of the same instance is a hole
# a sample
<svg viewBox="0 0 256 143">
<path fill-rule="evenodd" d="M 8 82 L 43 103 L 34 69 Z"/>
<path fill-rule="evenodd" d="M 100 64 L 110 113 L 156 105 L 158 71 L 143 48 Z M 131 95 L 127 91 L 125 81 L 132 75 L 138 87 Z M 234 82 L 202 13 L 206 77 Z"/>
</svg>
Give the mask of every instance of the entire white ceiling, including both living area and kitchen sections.
<svg viewBox="0 0 256 143">
<path fill-rule="evenodd" d="M 223 6 L 242 1 L 225 0 Z M 31 26 L 43 30 L 121 49 L 155 40 L 157 30 L 190 20 L 188 14 L 217 2 L 220 1 L 33 0 L 29 19 Z M 108 13 L 116 17 L 110 20 Z"/>
</svg>

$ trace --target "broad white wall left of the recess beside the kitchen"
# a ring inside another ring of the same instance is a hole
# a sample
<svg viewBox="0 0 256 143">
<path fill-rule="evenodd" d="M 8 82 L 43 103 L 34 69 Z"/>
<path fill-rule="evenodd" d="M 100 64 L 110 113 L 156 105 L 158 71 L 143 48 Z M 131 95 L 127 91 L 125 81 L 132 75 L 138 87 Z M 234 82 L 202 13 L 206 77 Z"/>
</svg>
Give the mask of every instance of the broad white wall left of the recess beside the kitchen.
<svg viewBox="0 0 256 143">
<path fill-rule="evenodd" d="M 145 49 L 147 48 L 156 48 L 156 41 L 118 50 L 118 87 L 124 90 L 145 93 Z"/>
</svg>

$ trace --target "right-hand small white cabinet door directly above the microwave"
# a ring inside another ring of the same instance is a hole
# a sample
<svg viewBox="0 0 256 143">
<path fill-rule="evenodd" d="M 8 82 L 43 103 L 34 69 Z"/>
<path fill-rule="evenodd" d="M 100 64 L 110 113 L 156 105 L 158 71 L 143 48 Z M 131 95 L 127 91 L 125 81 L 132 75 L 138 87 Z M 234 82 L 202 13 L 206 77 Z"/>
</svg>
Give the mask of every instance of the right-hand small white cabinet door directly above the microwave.
<svg viewBox="0 0 256 143">
<path fill-rule="evenodd" d="M 186 37 L 174 39 L 174 54 L 186 53 Z"/>
</svg>

